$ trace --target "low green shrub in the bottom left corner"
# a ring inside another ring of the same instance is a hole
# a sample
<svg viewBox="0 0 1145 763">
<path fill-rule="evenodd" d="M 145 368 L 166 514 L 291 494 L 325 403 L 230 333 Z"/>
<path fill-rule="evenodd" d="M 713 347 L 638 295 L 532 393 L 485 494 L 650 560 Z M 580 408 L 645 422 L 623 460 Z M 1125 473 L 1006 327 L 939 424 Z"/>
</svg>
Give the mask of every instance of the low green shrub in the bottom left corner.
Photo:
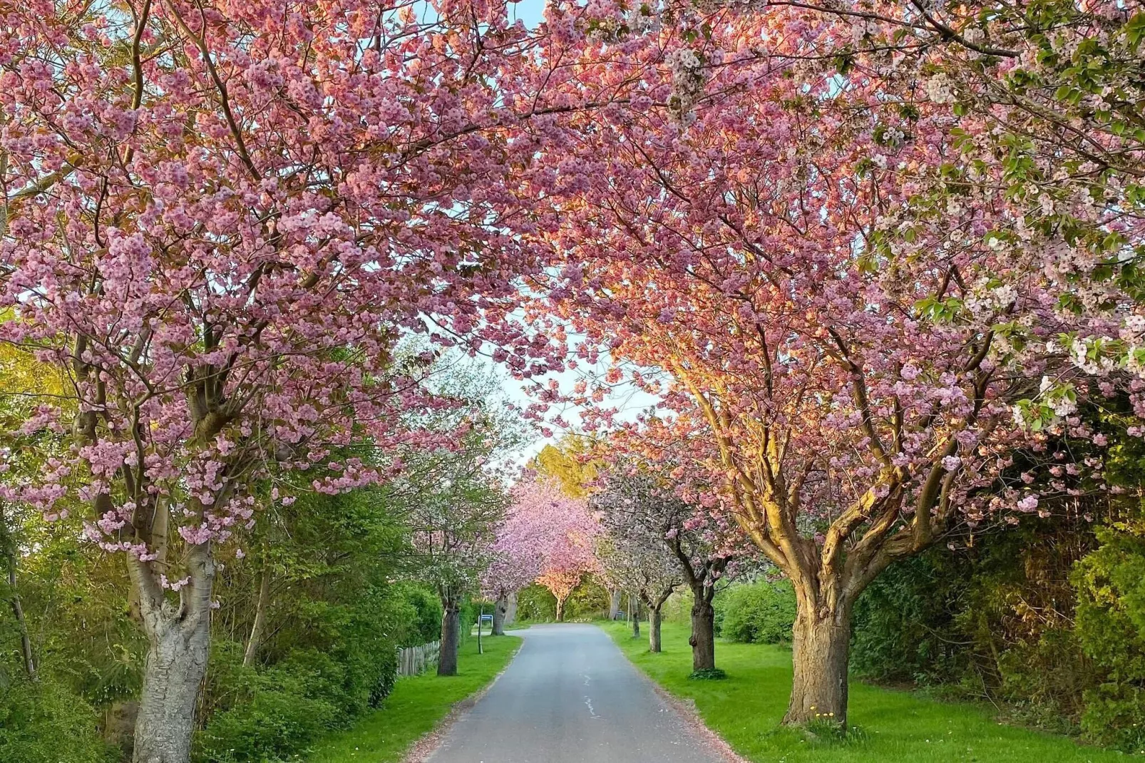
<svg viewBox="0 0 1145 763">
<path fill-rule="evenodd" d="M 0 761 L 110 763 L 97 719 L 90 705 L 52 679 L 16 681 L 0 687 Z"/>
</svg>

